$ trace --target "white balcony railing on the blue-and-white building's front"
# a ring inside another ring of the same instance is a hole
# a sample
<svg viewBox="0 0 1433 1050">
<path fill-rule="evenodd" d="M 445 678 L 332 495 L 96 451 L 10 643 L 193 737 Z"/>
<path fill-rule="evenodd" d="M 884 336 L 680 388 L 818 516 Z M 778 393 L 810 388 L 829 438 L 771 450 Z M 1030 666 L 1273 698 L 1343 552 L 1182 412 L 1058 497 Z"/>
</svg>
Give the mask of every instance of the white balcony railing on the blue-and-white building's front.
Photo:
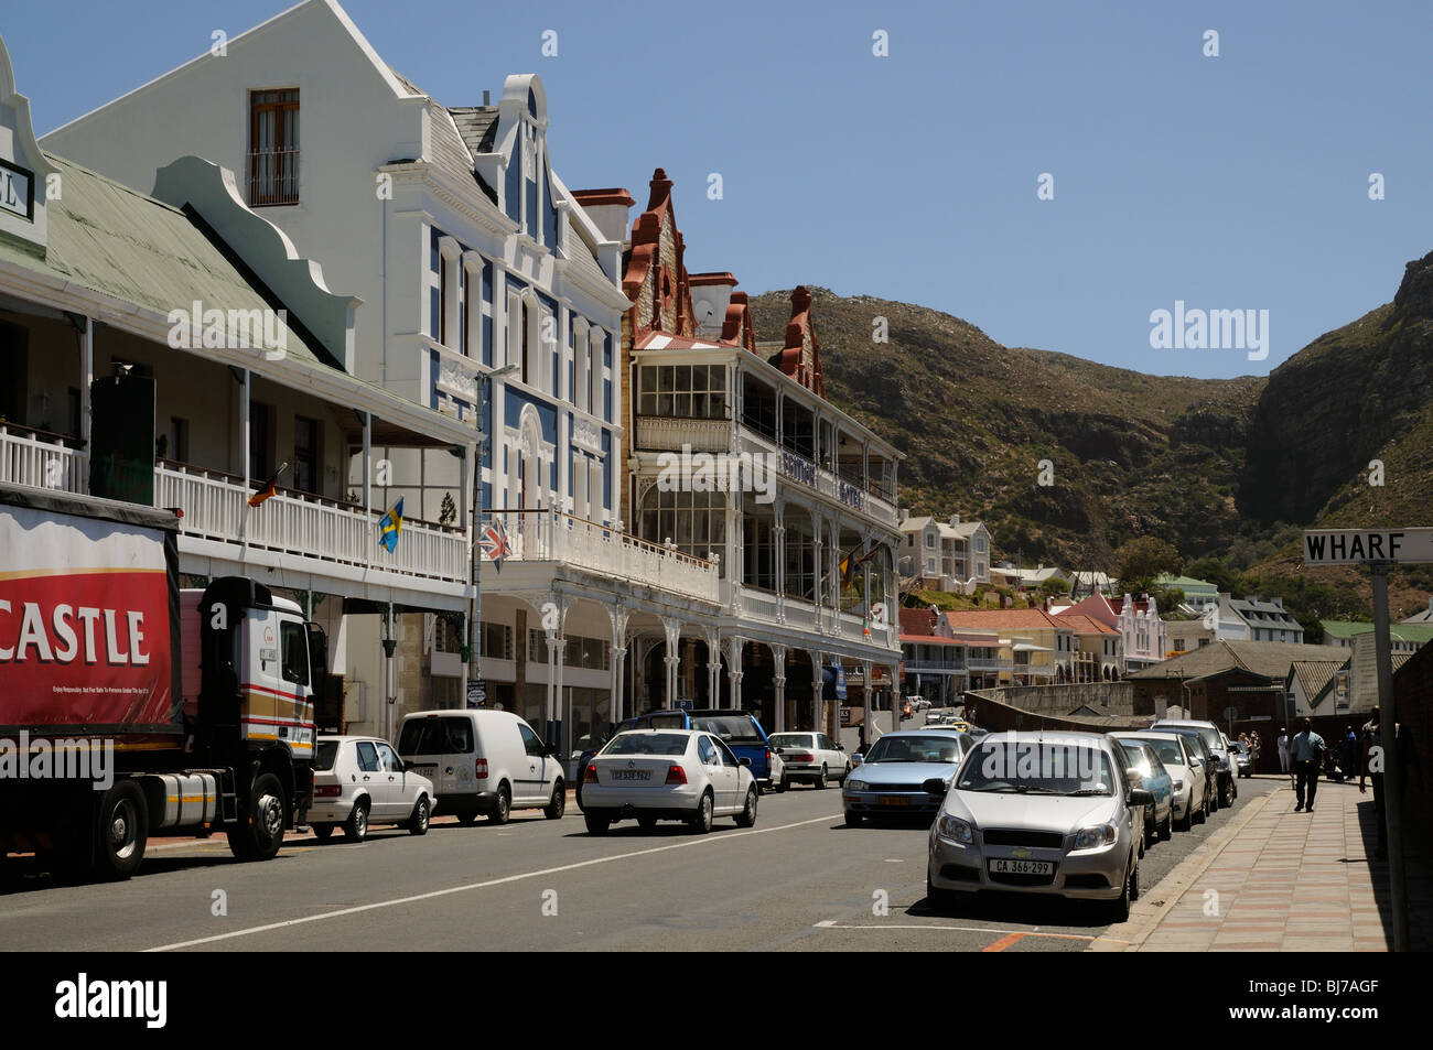
<svg viewBox="0 0 1433 1050">
<path fill-rule="evenodd" d="M 716 563 L 555 510 L 496 510 L 516 562 L 562 562 L 648 587 L 721 602 Z"/>
</svg>

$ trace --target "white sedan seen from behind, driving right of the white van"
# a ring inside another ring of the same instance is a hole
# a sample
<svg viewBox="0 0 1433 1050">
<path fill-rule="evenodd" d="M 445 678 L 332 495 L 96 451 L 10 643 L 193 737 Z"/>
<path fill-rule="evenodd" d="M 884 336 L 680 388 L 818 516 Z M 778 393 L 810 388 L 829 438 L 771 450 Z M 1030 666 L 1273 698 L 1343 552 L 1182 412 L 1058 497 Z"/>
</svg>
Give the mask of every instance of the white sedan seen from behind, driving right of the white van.
<svg viewBox="0 0 1433 1050">
<path fill-rule="evenodd" d="M 715 817 L 738 828 L 757 822 L 757 778 L 719 736 L 701 729 L 629 729 L 613 736 L 582 772 L 582 815 L 592 835 L 636 818 L 643 831 L 658 821 L 712 829 Z"/>
</svg>

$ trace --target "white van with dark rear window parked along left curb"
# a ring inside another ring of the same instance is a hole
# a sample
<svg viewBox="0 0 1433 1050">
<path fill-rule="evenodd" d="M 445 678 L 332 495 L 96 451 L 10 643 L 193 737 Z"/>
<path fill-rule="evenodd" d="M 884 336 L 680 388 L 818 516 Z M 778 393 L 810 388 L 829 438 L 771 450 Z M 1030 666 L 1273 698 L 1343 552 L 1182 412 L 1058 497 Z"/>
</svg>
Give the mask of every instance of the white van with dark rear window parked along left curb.
<svg viewBox="0 0 1433 1050">
<path fill-rule="evenodd" d="M 510 711 L 418 711 L 398 726 L 398 755 L 433 781 L 434 814 L 506 824 L 513 809 L 550 821 L 567 802 L 557 749 Z"/>
</svg>

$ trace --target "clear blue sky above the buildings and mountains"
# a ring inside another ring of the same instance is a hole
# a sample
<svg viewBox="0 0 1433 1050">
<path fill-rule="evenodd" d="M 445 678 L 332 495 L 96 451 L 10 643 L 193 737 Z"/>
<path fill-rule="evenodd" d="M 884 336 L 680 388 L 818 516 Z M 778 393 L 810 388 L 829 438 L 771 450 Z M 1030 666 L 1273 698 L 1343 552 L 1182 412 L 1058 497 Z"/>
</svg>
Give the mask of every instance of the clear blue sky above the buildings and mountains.
<svg viewBox="0 0 1433 1050">
<path fill-rule="evenodd" d="M 44 133 L 287 6 L 49 0 L 0 32 Z M 688 265 L 752 294 L 817 284 L 1007 345 L 1240 375 L 1387 302 L 1433 249 L 1427 0 L 345 7 L 447 105 L 540 73 L 563 180 L 645 205 L 666 168 Z M 1151 350 L 1175 299 L 1268 309 L 1268 360 Z"/>
</svg>

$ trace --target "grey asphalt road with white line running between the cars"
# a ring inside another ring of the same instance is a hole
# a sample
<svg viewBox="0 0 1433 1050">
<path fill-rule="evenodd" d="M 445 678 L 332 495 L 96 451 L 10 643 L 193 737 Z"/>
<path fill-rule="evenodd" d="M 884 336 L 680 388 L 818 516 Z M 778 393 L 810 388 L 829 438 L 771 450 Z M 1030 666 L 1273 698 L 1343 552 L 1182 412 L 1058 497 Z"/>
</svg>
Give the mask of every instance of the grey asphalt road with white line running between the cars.
<svg viewBox="0 0 1433 1050">
<path fill-rule="evenodd" d="M 1235 806 L 1275 786 L 1242 781 Z M 1144 892 L 1230 817 L 1156 842 Z M 302 838 L 264 864 L 186 844 L 119 884 L 60 885 L 21 862 L 0 930 L 9 951 L 1080 951 L 1106 928 L 1085 902 L 1032 897 L 937 915 L 924 888 L 926 825 L 845 828 L 837 788 L 798 786 L 762 796 L 755 828 L 722 819 L 705 837 L 623 822 L 592 838 L 569 805 L 421 838 Z"/>
</svg>

